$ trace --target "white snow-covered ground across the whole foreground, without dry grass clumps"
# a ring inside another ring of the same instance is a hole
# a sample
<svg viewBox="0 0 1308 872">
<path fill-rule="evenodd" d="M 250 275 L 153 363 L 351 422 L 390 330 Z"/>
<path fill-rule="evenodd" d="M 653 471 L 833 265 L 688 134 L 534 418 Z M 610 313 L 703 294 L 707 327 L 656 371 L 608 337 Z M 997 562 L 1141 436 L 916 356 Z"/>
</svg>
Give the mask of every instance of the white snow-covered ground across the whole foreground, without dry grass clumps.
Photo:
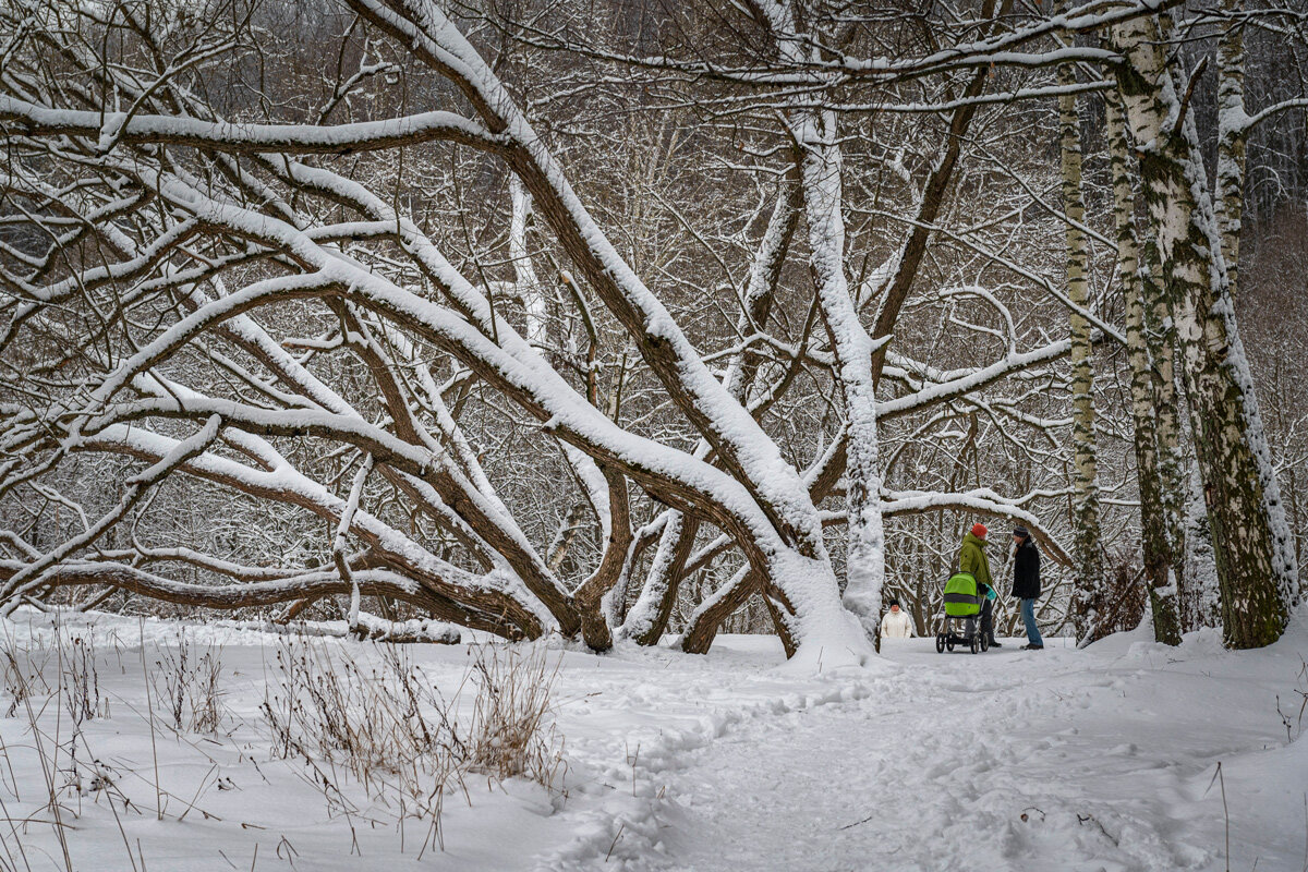
<svg viewBox="0 0 1308 872">
<path fill-rule="evenodd" d="M 24 613 L 0 624 L 0 645 L 44 658 L 58 686 L 69 639 L 93 641 L 109 716 L 81 723 L 76 765 L 52 760 L 72 735 L 65 706 L 34 693 L 30 715 L 4 716 L 0 686 L 0 817 L 27 821 L 0 824 L 0 869 L 1226 869 L 1230 825 L 1231 869 L 1298 871 L 1303 624 L 1243 654 L 1211 634 L 1179 650 L 1126 634 L 976 656 L 910 639 L 870 669 L 811 677 L 778 671 L 780 647 L 759 637 L 721 638 L 708 658 L 553 651 L 556 790 L 470 775 L 445 800 L 442 851 L 429 822 L 369 799 L 339 765 L 272 756 L 259 705 L 277 637 L 188 630 L 192 654 L 221 645 L 224 665 L 228 715 L 199 736 L 146 705 L 143 631 L 152 671 L 177 625 L 76 618 L 55 646 L 48 618 Z M 407 654 L 456 711 L 470 703 L 466 646 Z"/>
</svg>

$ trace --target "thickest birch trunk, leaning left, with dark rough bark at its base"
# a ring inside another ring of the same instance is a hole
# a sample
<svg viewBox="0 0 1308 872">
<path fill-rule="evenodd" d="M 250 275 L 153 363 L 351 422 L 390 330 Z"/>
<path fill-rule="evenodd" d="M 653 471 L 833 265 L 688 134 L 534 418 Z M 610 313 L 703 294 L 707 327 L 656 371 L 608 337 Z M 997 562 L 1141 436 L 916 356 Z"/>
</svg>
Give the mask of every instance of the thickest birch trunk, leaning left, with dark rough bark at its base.
<svg viewBox="0 0 1308 872">
<path fill-rule="evenodd" d="M 1141 154 L 1144 197 L 1176 324 L 1203 499 L 1213 528 L 1224 637 L 1278 639 L 1298 577 L 1258 401 L 1236 326 L 1194 119 L 1181 105 L 1158 20 L 1114 25 L 1118 88 Z"/>
</svg>

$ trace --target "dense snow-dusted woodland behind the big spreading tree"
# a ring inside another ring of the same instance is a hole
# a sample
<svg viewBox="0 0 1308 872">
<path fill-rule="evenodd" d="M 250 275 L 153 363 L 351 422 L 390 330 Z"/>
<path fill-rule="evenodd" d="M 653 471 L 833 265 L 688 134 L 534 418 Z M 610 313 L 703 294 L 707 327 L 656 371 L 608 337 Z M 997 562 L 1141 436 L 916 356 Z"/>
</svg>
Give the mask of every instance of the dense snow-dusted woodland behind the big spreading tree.
<svg viewBox="0 0 1308 872">
<path fill-rule="evenodd" d="M 127 0 L 75 10 L 60 3 L 5 0 L 0 4 L 0 88 L 12 99 L 52 109 L 95 112 L 102 107 L 245 124 L 341 126 L 437 110 L 470 114 L 466 89 L 383 33 L 382 13 L 375 10 L 392 7 L 420 20 L 412 10 L 422 4 L 412 3 Z M 905 303 L 893 322 L 891 357 L 876 383 L 883 405 L 948 382 L 951 374 L 994 365 L 1010 350 L 1033 352 L 1067 337 L 1069 311 L 1056 298 L 1067 286 L 1069 255 L 1054 99 L 1059 80 L 1050 60 L 1029 65 L 973 61 L 942 67 L 930 76 L 849 78 L 820 88 L 763 86 L 713 73 L 717 68 L 766 69 L 773 63 L 757 17 L 751 20 L 732 4 L 561 0 L 458 3 L 445 9 L 708 370 L 718 378 L 732 367 L 751 371 L 740 396 L 753 401 L 761 429 L 799 473 L 819 467 L 841 438 L 849 407 L 833 363 L 828 315 L 815 292 L 820 278 L 814 263 L 821 252 L 814 248 L 799 210 L 778 209 L 799 187 L 799 149 L 787 116 L 810 106 L 838 116 L 842 267 L 865 327 L 871 329 L 889 285 L 908 281 Z M 909 1 L 799 8 L 803 26 L 825 34 L 828 44 L 838 44 L 846 58 L 888 59 L 930 56 L 994 30 L 1020 30 L 1049 14 L 1040 3 L 1005 4 L 998 12 L 991 3 L 985 9 L 973 3 Z M 1254 115 L 1308 94 L 1308 10 L 1294 3 L 1220 8 L 1188 3 L 1171 14 L 1176 30 L 1169 37 L 1169 59 L 1186 89 L 1186 111 L 1197 126 L 1207 176 L 1214 179 L 1219 37 L 1231 27 L 1244 35 L 1244 99 Z M 1113 244 L 1104 105 L 1104 88 L 1112 82 L 1104 85 L 1104 69 L 1088 60 L 1105 33 L 1107 27 L 1103 33 L 1084 27 L 1071 35 L 1070 44 L 1084 56 L 1062 67 L 1076 82 L 1065 90 L 1076 93 L 1083 154 L 1086 309 L 1125 332 L 1126 293 Z M 1045 37 L 1023 51 L 1056 47 L 1057 41 Z M 1019 93 L 1024 95 L 1015 97 Z M 933 192 L 929 179 L 951 143 L 950 126 L 959 123 L 961 106 L 969 118 L 965 132 L 952 136 L 955 167 L 943 191 Z M 280 216 L 302 229 L 339 226 L 323 244 L 415 294 L 443 298 L 404 246 L 386 238 L 386 220 L 361 217 L 353 204 L 330 192 L 279 178 L 276 162 L 260 165 L 251 149 L 165 144 L 166 135 L 154 141 L 123 137 L 111 143 L 105 139 L 114 129 L 109 122 L 102 122 L 99 136 L 54 129 L 58 124 L 38 129 L 25 111 L 13 111 L 8 103 L 0 111 L 5 144 L 0 158 L 5 276 L 0 284 L 5 331 L 0 403 L 10 417 L 0 454 L 5 536 L 0 557 L 10 561 L 9 577 L 112 512 L 132 484 L 129 477 L 158 460 L 140 452 L 82 451 L 76 444 L 61 451 L 59 422 L 77 408 L 97 414 L 103 407 L 86 400 L 95 386 L 203 306 L 203 299 L 305 268 L 294 265 L 296 255 L 277 252 L 256 235 L 242 239 L 230 227 L 204 220 L 177 244 L 167 243 L 166 254 L 141 255 L 152 239 L 167 237 L 188 218 L 166 197 L 150 195 L 152 184 L 161 183 L 149 174 L 133 175 L 139 167 L 184 176 L 198 190 L 218 192 L 211 196 Z M 1300 493 L 1308 482 L 1308 411 L 1300 401 L 1308 336 L 1305 119 L 1303 109 L 1286 106 L 1260 120 L 1249 135 L 1235 294 L 1300 563 L 1308 536 L 1308 506 Z M 540 205 L 532 210 L 531 197 L 509 170 L 511 159 L 450 141 L 343 150 L 353 153 L 296 159 L 360 183 L 412 221 L 485 294 L 492 315 L 484 332 L 496 333 L 494 319 L 505 319 L 577 395 L 623 430 L 713 461 L 715 448 L 702 442 L 702 428 L 642 357 L 647 340 L 633 335 L 602 302 L 585 269 L 578 271 L 572 260 L 574 252 L 542 217 Z M 250 178 L 242 180 L 241 173 Z M 1137 176 L 1137 184 L 1143 183 L 1147 179 Z M 115 205 L 133 196 L 139 200 Z M 939 197 L 938 209 L 922 222 L 923 200 L 933 196 Z M 1135 224 L 1147 242 L 1143 203 L 1137 205 Z M 768 310 L 747 315 L 751 269 L 763 263 L 760 250 L 777 216 L 791 224 L 789 250 L 776 268 Z M 923 224 L 933 231 L 925 234 L 921 264 L 904 276 L 905 246 L 914 226 Z M 115 250 L 115 233 L 141 248 L 135 254 Z M 255 251 L 260 247 L 267 250 Z M 133 258 L 144 260 L 109 280 L 93 275 L 107 264 L 135 263 Z M 230 260 L 216 265 L 224 258 Z M 191 284 L 169 277 L 186 271 L 194 271 Z M 21 314 L 33 298 L 30 288 L 58 282 L 73 293 L 35 315 Z M 183 284 L 203 299 L 188 298 Z M 374 365 L 390 361 L 413 413 L 433 433 L 443 434 L 439 439 L 449 446 L 453 431 L 432 397 L 421 399 L 419 370 L 425 369 L 456 422 L 455 441 L 462 447 L 451 451 L 460 464 L 475 458 L 487 480 L 487 486 L 477 488 L 497 494 L 538 562 L 572 594 L 599 571 L 612 522 L 604 519 L 610 507 L 596 506 L 596 493 L 608 492 L 587 481 L 595 464 L 574 456 L 583 452 L 565 448 L 566 441 L 549 420 L 526 413 L 484 373 L 470 369 L 432 337 L 411 333 L 402 340 L 373 312 L 288 297 L 249 316 L 298 366 L 383 430 L 395 429 L 396 416 Z M 480 323 L 473 316 L 468 320 Z M 493 339 L 500 341 L 497 335 Z M 1131 367 L 1114 337 L 1095 329 L 1091 339 L 1100 503 L 1096 548 L 1103 563 L 1096 578 L 1074 569 L 1078 492 L 1073 373 L 1066 356 L 1012 367 L 944 401 L 878 416 L 876 461 L 886 512 L 882 597 L 897 596 L 918 634 L 933 631 L 957 544 L 977 520 L 995 531 L 991 561 L 999 579 L 1011 574 L 1006 558 L 1011 524 L 1039 524 L 1046 590 L 1040 620 L 1048 633 L 1073 631 L 1076 588 L 1087 592 L 1100 616 L 1095 633 L 1134 626 L 1144 616 L 1148 596 L 1142 580 Z M 370 357 L 369 343 L 385 346 L 385 354 Z M 187 390 L 251 407 L 294 411 L 310 405 L 289 396 L 297 391 L 275 370 L 262 369 L 266 363 L 251 345 L 208 332 L 152 365 L 152 371 Z M 153 396 L 167 392 L 164 387 Z M 127 403 L 152 392 L 135 383 L 123 396 Z M 1184 403 L 1177 411 L 1188 428 Z M 196 425 L 204 424 L 204 416 L 191 420 L 162 412 L 123 412 L 120 420 L 177 439 L 192 437 Z M 42 443 L 27 430 L 18 433 L 29 425 L 44 428 L 54 441 Z M 86 433 L 92 429 L 88 425 Z M 267 430 L 259 438 L 347 509 L 315 511 L 302 501 L 170 472 L 150 482 L 94 541 L 60 561 L 132 566 L 175 582 L 221 587 L 324 578 L 336 573 L 344 553 L 344 579 L 351 570 L 373 578 L 368 573 L 381 563 L 369 557 L 368 537 L 339 532 L 343 511 L 357 505 L 450 566 L 485 571 L 485 561 L 477 557 L 481 545 L 470 548 L 467 531 L 426 505 L 432 498 L 416 499 L 412 482 L 403 476 L 369 475 L 374 460 L 366 446 L 307 426 Z M 224 444 L 221 438 L 200 450 L 234 460 L 256 454 L 250 444 Z M 1186 469 L 1193 456 L 1188 448 Z M 472 473 L 468 477 L 475 480 Z M 1186 472 L 1186 478 L 1193 475 Z M 619 554 L 621 573 L 611 579 L 615 592 L 604 605 L 607 621 L 619 635 L 625 628 L 634 638 L 642 629 L 647 633 L 649 625 L 633 628 L 633 612 L 653 613 L 655 630 L 681 633 L 714 591 L 739 579 L 746 558 L 708 515 L 695 519 L 697 531 L 683 527 L 679 536 L 670 536 L 668 501 L 674 497 L 642 481 L 629 484 L 634 544 Z M 1216 582 L 1197 484 L 1185 503 L 1190 535 L 1181 607 L 1184 629 L 1193 629 L 1216 620 Z M 815 506 L 823 512 L 825 546 L 844 584 L 849 574 L 846 482 L 827 489 Z M 462 511 L 454 506 L 455 515 Z M 351 540 L 344 546 L 343 536 Z M 487 533 L 477 529 L 471 539 L 477 537 L 485 540 Z M 496 571 L 508 570 L 496 563 L 490 575 Z M 85 578 L 61 583 L 58 574 L 38 578 L 47 586 L 29 584 L 22 592 L 27 601 L 126 613 L 213 614 L 186 596 L 165 596 L 173 601 L 164 601 L 109 577 L 92 579 L 95 583 Z M 521 583 L 506 586 L 517 590 Z M 17 601 L 21 597 L 13 587 L 7 594 Z M 999 587 L 1007 594 L 1006 580 Z M 361 590 L 357 583 L 354 590 Z M 347 584 L 326 595 L 232 603 L 234 608 L 222 612 L 260 621 L 345 618 L 357 628 L 362 608 L 388 624 L 438 617 L 498 631 L 493 621 L 459 621 L 456 611 L 404 600 L 381 582 L 375 588 L 365 583 L 362 591 L 361 605 L 352 605 Z M 651 607 L 645 601 L 650 596 L 662 596 L 662 603 Z M 662 618 L 659 605 L 666 605 Z M 527 611 L 540 612 L 535 605 Z M 753 592 L 722 629 L 774 631 L 774 611 L 761 592 Z M 1001 597 L 998 616 L 1002 633 L 1018 631 L 1016 601 Z"/>
</svg>

